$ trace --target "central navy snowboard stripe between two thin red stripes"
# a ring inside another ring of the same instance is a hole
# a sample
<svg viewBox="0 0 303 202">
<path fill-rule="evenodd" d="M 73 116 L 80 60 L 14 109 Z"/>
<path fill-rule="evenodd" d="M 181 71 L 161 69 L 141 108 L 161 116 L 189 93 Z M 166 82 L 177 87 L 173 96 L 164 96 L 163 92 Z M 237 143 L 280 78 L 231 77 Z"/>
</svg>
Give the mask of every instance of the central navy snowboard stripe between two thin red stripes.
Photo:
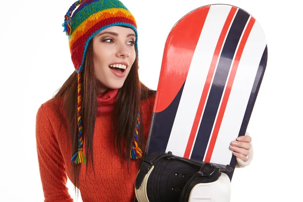
<svg viewBox="0 0 303 202">
<path fill-rule="evenodd" d="M 226 37 L 190 159 L 203 160 L 216 119 L 232 59 L 249 14 L 238 10 Z"/>
</svg>

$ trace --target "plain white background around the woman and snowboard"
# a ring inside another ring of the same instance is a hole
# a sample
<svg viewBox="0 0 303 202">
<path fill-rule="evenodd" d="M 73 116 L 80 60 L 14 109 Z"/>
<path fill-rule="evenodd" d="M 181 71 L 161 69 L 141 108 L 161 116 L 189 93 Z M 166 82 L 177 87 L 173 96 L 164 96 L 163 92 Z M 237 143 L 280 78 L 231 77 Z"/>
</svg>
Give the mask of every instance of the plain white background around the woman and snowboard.
<svg viewBox="0 0 303 202">
<path fill-rule="evenodd" d="M 268 64 L 247 129 L 254 160 L 234 173 L 231 201 L 302 201 L 300 1 L 122 2 L 136 18 L 139 74 L 152 89 L 158 86 L 166 37 L 188 12 L 223 3 L 240 7 L 257 19 L 268 42 Z M 0 201 L 44 199 L 35 116 L 74 71 L 62 27 L 73 3 L 15 0 L 0 5 Z M 68 186 L 74 197 L 70 182 Z"/>
</svg>

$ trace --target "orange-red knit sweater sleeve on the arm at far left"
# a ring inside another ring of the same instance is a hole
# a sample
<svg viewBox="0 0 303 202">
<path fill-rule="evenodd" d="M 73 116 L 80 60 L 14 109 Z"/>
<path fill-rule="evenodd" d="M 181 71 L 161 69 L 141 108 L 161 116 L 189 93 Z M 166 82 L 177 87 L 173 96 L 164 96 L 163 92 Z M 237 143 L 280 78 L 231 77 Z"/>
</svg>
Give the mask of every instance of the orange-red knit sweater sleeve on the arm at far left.
<svg viewBox="0 0 303 202">
<path fill-rule="evenodd" d="M 44 202 L 72 202 L 59 144 L 47 118 L 49 114 L 42 105 L 36 115 L 36 146 Z"/>
</svg>

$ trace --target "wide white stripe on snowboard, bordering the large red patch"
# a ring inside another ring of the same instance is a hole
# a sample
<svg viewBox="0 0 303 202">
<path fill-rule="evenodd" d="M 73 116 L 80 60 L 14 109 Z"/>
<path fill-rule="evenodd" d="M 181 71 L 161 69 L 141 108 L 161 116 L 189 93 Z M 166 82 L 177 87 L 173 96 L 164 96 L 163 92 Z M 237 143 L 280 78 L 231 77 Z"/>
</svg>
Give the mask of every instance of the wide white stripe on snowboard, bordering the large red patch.
<svg viewBox="0 0 303 202">
<path fill-rule="evenodd" d="M 213 54 L 230 9 L 224 6 L 209 10 L 188 70 L 166 152 L 184 156 Z"/>
</svg>

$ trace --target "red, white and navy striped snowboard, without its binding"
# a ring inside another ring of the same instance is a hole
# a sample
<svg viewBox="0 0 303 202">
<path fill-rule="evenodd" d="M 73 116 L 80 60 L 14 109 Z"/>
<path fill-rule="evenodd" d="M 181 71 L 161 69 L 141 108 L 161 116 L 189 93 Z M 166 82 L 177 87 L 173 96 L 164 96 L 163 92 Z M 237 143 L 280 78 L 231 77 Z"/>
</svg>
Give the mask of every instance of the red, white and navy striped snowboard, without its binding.
<svg viewBox="0 0 303 202">
<path fill-rule="evenodd" d="M 230 143 L 245 135 L 266 64 L 265 35 L 246 11 L 215 4 L 182 17 L 165 43 L 144 157 L 171 151 L 234 171 Z"/>
</svg>

